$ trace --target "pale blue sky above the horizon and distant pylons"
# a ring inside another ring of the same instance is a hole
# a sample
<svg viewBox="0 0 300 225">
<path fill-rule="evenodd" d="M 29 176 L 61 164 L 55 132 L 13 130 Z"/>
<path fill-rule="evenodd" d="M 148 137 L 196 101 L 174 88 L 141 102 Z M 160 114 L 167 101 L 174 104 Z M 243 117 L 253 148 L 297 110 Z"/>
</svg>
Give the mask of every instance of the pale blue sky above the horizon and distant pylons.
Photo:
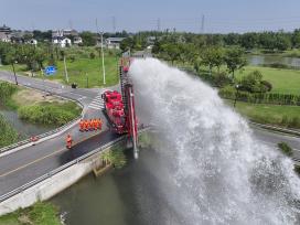
<svg viewBox="0 0 300 225">
<path fill-rule="evenodd" d="M 175 28 L 247 32 L 300 28 L 300 0 L 0 0 L 0 24 L 13 29 L 140 31 Z"/>
</svg>

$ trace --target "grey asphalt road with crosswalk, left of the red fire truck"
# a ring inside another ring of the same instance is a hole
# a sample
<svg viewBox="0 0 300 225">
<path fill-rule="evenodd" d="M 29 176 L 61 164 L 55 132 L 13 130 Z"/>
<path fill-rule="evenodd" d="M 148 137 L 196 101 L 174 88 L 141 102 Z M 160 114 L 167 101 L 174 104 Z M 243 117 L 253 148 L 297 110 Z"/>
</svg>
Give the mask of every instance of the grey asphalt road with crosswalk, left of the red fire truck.
<svg viewBox="0 0 300 225">
<path fill-rule="evenodd" d="M 0 79 L 14 82 L 13 75 L 9 72 L 0 72 Z M 104 126 L 100 133 L 99 131 L 82 133 L 78 131 L 78 127 L 75 126 L 61 136 L 38 143 L 34 147 L 0 156 L 0 195 L 117 138 L 116 135 L 108 131 L 107 119 L 101 111 L 100 94 L 104 89 L 73 89 L 54 82 L 25 76 L 18 76 L 18 82 L 22 86 L 78 100 L 84 106 L 84 117 L 100 117 L 104 120 Z M 65 148 L 67 133 L 72 135 L 75 142 L 79 142 L 72 151 Z"/>
</svg>

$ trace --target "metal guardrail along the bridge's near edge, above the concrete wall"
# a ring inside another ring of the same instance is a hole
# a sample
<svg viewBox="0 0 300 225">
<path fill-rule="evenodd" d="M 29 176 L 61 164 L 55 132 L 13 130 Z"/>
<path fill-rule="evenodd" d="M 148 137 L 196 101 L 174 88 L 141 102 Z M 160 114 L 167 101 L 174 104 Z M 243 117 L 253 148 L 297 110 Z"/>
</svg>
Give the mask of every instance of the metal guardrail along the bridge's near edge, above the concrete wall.
<svg viewBox="0 0 300 225">
<path fill-rule="evenodd" d="M 151 129 L 151 127 L 144 127 L 144 128 L 142 128 L 141 130 L 139 130 L 139 133 L 144 132 L 144 131 L 150 130 L 150 129 Z M 33 186 L 33 185 L 35 185 L 35 184 L 38 184 L 38 183 L 40 183 L 40 182 L 42 182 L 42 181 L 49 179 L 49 178 L 51 178 L 52 175 L 55 175 L 55 174 L 57 174 L 58 172 L 61 172 L 61 171 L 63 171 L 63 170 L 65 170 L 65 169 L 72 167 L 72 165 L 74 165 L 74 164 L 77 164 L 78 162 L 81 162 L 81 161 L 83 161 L 83 160 L 89 158 L 90 156 L 93 156 L 93 154 L 95 154 L 95 153 L 98 153 L 98 152 L 100 152 L 100 151 L 103 151 L 103 150 L 105 150 L 105 149 L 107 149 L 107 148 L 109 148 L 109 147 L 111 147 L 111 146 L 114 146 L 114 144 L 120 142 L 120 141 L 124 140 L 125 138 L 127 138 L 127 136 L 121 136 L 121 137 L 117 138 L 116 140 L 110 141 L 110 142 L 108 142 L 108 143 L 106 143 L 106 144 L 99 147 L 98 149 L 95 149 L 95 150 L 93 150 L 93 151 L 90 151 L 90 152 L 88 152 L 88 153 L 86 153 L 86 154 L 84 154 L 84 156 L 82 156 L 82 157 L 79 157 L 79 158 L 77 158 L 77 159 L 71 161 L 71 162 L 67 162 L 66 164 L 63 164 L 63 165 L 60 167 L 60 168 L 56 168 L 56 169 L 50 171 L 49 173 L 46 173 L 46 174 L 44 174 L 44 175 L 42 175 L 42 176 L 40 176 L 40 178 L 33 180 L 33 181 L 30 181 L 30 182 L 25 183 L 25 184 L 22 185 L 22 186 L 19 186 L 18 189 L 14 189 L 14 190 L 12 190 L 12 191 L 10 191 L 10 192 L 8 192 L 8 193 L 1 195 L 1 196 L 0 196 L 0 202 L 3 202 L 3 201 L 6 201 L 6 200 L 10 199 L 11 196 L 13 196 L 13 195 L 15 195 L 15 194 L 19 194 L 19 193 L 25 191 L 26 189 L 29 189 L 29 188 L 31 188 L 31 186 Z"/>
</svg>

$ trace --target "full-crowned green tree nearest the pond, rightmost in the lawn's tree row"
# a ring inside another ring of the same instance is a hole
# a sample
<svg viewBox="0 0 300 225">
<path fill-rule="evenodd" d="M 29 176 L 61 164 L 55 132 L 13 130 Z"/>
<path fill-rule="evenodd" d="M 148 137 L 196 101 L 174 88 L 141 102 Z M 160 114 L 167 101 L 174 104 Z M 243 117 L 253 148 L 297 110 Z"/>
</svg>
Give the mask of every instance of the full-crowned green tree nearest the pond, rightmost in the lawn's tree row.
<svg viewBox="0 0 300 225">
<path fill-rule="evenodd" d="M 224 62 L 235 78 L 235 71 L 243 68 L 247 61 L 244 57 L 244 51 L 240 47 L 231 47 L 226 51 Z"/>
</svg>

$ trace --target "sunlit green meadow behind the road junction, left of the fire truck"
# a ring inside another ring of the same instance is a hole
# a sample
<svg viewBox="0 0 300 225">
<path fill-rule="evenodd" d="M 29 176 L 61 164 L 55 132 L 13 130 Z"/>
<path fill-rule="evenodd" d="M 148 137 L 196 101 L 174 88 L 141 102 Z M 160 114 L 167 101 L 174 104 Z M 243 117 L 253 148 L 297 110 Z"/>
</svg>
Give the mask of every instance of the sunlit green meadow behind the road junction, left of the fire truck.
<svg viewBox="0 0 300 225">
<path fill-rule="evenodd" d="M 115 55 L 107 55 L 105 57 L 106 69 L 106 85 L 113 86 L 119 82 L 118 77 L 118 57 Z M 103 85 L 103 66 L 99 57 L 95 58 L 76 58 L 74 62 L 67 60 L 67 73 L 69 78 L 69 85 L 72 83 L 78 84 L 78 87 L 101 87 Z M 0 66 L 2 71 L 12 71 L 10 65 Z M 26 72 L 25 65 L 15 65 L 15 71 L 22 75 L 31 75 Z M 43 78 L 41 72 L 35 72 L 34 75 L 39 78 Z M 53 76 L 44 76 L 46 79 L 57 81 L 62 84 L 67 84 L 65 78 L 64 64 L 62 61 L 57 61 L 57 73 Z"/>
</svg>

